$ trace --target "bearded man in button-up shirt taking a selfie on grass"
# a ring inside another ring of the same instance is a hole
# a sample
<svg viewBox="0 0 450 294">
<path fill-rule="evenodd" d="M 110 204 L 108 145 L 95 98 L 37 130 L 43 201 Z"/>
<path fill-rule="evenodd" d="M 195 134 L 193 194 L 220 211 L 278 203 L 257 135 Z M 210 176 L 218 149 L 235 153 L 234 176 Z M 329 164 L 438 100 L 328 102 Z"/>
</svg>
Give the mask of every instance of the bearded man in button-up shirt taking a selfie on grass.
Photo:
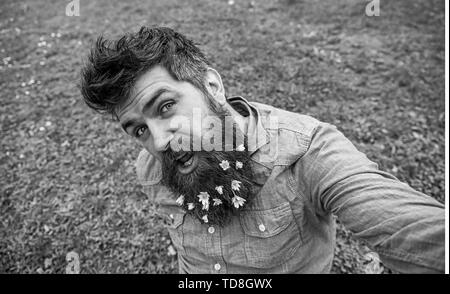
<svg viewBox="0 0 450 294">
<path fill-rule="evenodd" d="M 99 37 L 81 89 L 143 147 L 137 177 L 170 220 L 180 273 L 328 273 L 335 216 L 398 272 L 444 271 L 444 206 L 334 126 L 242 97 L 192 41 Z"/>
</svg>

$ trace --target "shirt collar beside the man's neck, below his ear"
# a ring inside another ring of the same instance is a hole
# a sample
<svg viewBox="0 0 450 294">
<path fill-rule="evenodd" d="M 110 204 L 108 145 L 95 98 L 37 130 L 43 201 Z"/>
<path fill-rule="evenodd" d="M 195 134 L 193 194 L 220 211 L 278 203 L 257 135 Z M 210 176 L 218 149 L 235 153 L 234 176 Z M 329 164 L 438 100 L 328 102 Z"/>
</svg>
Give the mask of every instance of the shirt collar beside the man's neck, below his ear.
<svg viewBox="0 0 450 294">
<path fill-rule="evenodd" d="M 269 134 L 262 124 L 259 110 L 241 96 L 227 98 L 230 105 L 241 115 L 248 117 L 247 139 L 250 154 L 269 143 Z"/>
</svg>

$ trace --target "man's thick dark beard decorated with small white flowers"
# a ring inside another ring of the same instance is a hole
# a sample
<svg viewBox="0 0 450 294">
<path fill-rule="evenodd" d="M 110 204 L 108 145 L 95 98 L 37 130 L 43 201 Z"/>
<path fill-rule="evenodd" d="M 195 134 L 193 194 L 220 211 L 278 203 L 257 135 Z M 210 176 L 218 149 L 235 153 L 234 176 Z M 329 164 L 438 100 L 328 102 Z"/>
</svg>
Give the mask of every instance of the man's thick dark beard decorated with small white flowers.
<svg viewBox="0 0 450 294">
<path fill-rule="evenodd" d="M 211 110 L 221 119 L 224 136 L 227 131 L 225 117 L 231 114 L 214 108 Z M 233 139 L 236 138 L 236 132 L 240 130 L 234 124 Z M 163 185 L 178 197 L 177 203 L 186 213 L 201 223 L 225 226 L 251 202 L 255 194 L 247 137 L 242 136 L 245 148 L 240 151 L 237 151 L 236 140 L 233 140 L 233 151 L 175 152 L 168 149 L 162 153 Z M 182 156 L 196 157 L 197 166 L 189 174 L 182 174 L 178 170 L 177 158 Z"/>
</svg>

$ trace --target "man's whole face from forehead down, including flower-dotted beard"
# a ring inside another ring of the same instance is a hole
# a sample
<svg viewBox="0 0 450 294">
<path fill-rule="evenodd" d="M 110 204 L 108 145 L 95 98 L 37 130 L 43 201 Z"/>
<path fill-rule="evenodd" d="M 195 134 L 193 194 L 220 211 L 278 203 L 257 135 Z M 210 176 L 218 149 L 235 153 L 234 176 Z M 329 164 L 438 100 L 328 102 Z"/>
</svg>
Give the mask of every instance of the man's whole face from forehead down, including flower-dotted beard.
<svg viewBox="0 0 450 294">
<path fill-rule="evenodd" d="M 213 79 L 208 88 L 212 92 L 214 83 Z M 221 139 L 227 132 L 233 137 L 242 134 L 238 127 L 225 123 L 226 118 L 232 117 L 229 111 L 214 107 L 215 94 L 205 95 L 192 84 L 175 80 L 158 66 L 137 80 L 130 99 L 119 107 L 117 114 L 124 130 L 161 161 L 163 184 L 181 197 L 180 205 L 202 222 L 224 225 L 230 213 L 249 199 L 253 183 L 247 151 L 192 150 L 194 138 L 211 127 L 202 123 L 200 128 L 195 127 L 198 115 L 200 122 L 217 118 L 221 123 L 218 129 Z M 174 150 L 174 142 L 180 138 L 189 138 L 191 149 Z M 232 147 L 236 149 L 237 143 Z"/>
</svg>

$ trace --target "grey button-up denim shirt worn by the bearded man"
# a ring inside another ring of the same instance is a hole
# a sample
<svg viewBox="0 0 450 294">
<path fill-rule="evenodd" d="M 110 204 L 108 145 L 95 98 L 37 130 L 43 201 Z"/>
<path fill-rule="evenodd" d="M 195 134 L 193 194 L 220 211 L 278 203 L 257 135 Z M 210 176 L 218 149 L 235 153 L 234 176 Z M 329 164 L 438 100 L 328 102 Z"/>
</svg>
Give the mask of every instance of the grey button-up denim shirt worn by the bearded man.
<svg viewBox="0 0 450 294">
<path fill-rule="evenodd" d="M 442 204 L 380 171 L 330 124 L 242 97 L 228 100 L 248 116 L 261 188 L 227 226 L 186 214 L 161 185 L 161 164 L 147 151 L 136 162 L 144 192 L 169 220 L 180 273 L 329 273 L 335 217 L 385 266 L 444 272 Z"/>
</svg>

